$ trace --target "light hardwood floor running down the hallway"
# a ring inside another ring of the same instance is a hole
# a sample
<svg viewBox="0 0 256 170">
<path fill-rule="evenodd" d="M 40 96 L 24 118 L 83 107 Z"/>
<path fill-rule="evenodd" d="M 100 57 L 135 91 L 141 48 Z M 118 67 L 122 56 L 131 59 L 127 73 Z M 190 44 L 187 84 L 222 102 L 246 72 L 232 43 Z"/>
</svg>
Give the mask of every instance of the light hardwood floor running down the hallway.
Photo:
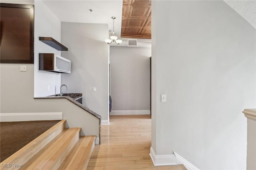
<svg viewBox="0 0 256 170">
<path fill-rule="evenodd" d="M 183 165 L 154 166 L 150 115 L 112 115 L 101 127 L 87 170 L 186 170 Z"/>
</svg>

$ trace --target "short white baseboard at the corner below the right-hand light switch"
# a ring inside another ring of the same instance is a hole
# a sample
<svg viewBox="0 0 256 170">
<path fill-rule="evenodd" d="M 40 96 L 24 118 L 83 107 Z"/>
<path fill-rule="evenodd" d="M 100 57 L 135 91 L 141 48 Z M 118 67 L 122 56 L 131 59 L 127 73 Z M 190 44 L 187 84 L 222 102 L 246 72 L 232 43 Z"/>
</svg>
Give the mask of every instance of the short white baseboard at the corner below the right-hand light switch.
<svg viewBox="0 0 256 170">
<path fill-rule="evenodd" d="M 176 165 L 176 157 L 174 154 L 166 155 L 156 155 L 153 148 L 150 147 L 150 157 L 154 166 L 166 166 L 166 165 Z"/>
</svg>

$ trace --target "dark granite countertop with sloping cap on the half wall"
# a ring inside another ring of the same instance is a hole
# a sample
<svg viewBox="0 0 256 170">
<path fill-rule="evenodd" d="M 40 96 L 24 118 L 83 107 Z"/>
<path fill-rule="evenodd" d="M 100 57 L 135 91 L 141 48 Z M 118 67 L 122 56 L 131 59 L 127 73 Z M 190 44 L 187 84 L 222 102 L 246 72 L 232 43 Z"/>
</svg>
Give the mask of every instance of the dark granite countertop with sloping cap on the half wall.
<svg viewBox="0 0 256 170">
<path fill-rule="evenodd" d="M 76 101 L 77 99 L 80 99 L 82 97 L 82 93 L 64 93 L 62 95 L 62 97 L 60 97 L 60 94 L 58 95 L 52 95 L 52 96 L 46 96 L 46 97 L 34 97 L 34 99 L 58 99 L 58 98 L 66 98 L 69 101 L 71 101 L 72 103 L 78 105 L 79 107 L 81 107 L 82 109 L 88 111 L 89 113 L 91 113 L 92 115 L 98 117 L 99 119 L 101 119 L 101 116 L 98 115 L 97 113 L 95 113 L 94 111 L 92 111 L 91 109 L 89 109 L 88 107 L 82 105 L 81 103 L 79 103 L 78 101 Z"/>
</svg>

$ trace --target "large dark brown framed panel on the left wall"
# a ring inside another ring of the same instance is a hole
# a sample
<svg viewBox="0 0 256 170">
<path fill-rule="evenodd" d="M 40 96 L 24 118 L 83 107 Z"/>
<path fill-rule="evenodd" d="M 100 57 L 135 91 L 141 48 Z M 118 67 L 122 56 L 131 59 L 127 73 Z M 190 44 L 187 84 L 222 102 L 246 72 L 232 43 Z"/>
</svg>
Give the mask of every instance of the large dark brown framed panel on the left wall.
<svg viewBox="0 0 256 170">
<path fill-rule="evenodd" d="M 34 63 L 34 5 L 0 3 L 0 63 Z"/>
</svg>

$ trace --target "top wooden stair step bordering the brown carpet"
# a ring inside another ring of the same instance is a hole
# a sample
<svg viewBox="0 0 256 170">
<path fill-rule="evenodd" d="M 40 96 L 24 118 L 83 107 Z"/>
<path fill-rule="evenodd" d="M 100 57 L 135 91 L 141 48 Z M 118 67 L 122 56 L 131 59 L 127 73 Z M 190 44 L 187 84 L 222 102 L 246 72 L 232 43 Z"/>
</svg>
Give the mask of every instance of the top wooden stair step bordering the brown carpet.
<svg viewBox="0 0 256 170">
<path fill-rule="evenodd" d="M 35 154 L 37 154 L 42 148 L 44 148 L 50 141 L 52 141 L 60 132 L 66 127 L 66 120 L 58 122 L 56 125 L 46 130 L 43 134 L 32 140 L 26 146 L 12 154 L 6 160 L 1 162 L 2 164 L 26 164 Z M 1 170 L 12 169 L 8 167 L 2 167 Z M 17 169 L 17 168 L 16 168 Z"/>
</svg>

